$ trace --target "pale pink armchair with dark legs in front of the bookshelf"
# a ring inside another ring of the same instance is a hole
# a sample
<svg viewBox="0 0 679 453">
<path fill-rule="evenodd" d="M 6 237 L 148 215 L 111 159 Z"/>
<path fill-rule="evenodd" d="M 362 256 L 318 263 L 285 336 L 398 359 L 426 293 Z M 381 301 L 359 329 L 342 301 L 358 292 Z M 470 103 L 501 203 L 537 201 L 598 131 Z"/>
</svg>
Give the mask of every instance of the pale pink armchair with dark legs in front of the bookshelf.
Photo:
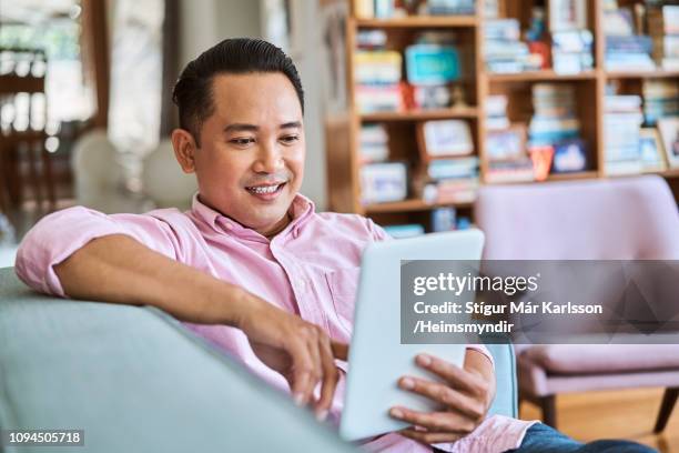
<svg viewBox="0 0 679 453">
<path fill-rule="evenodd" d="M 679 211 L 658 177 L 482 189 L 489 260 L 679 259 Z M 666 387 L 655 432 L 679 396 L 679 345 L 517 345 L 519 397 L 556 426 L 558 393 Z"/>
</svg>

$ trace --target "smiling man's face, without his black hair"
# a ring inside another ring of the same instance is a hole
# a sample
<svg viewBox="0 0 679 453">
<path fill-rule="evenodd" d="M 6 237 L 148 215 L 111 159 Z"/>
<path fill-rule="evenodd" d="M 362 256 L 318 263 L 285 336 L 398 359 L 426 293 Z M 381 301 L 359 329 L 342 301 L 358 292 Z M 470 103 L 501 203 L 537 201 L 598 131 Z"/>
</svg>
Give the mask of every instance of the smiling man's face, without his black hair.
<svg viewBox="0 0 679 453">
<path fill-rule="evenodd" d="M 277 72 L 215 76 L 212 91 L 214 113 L 194 152 L 201 201 L 267 235 L 287 223 L 302 185 L 300 100 Z"/>
</svg>

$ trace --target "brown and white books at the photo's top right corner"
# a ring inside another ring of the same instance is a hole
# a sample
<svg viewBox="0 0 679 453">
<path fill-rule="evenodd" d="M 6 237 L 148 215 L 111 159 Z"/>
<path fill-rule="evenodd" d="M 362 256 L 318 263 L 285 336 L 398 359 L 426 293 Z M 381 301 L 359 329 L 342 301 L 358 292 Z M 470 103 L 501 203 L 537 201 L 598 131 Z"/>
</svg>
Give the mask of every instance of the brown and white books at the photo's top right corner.
<svg viewBox="0 0 679 453">
<path fill-rule="evenodd" d="M 665 70 L 679 70 L 679 4 L 650 10 L 648 29 L 656 63 Z"/>
</svg>

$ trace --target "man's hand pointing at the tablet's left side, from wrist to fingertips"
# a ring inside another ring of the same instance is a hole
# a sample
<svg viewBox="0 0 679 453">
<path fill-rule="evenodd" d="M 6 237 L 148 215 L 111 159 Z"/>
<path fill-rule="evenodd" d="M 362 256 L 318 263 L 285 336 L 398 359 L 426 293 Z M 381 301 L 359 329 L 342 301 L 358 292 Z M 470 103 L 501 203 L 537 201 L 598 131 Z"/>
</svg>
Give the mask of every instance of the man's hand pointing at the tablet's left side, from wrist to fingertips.
<svg viewBox="0 0 679 453">
<path fill-rule="evenodd" d="M 332 341 L 317 325 L 250 296 L 251 309 L 240 316 L 236 326 L 257 358 L 287 380 L 297 405 L 311 403 L 321 383 L 314 411 L 318 420 L 325 420 L 340 380 L 333 359 L 346 360 L 346 344 Z"/>
</svg>

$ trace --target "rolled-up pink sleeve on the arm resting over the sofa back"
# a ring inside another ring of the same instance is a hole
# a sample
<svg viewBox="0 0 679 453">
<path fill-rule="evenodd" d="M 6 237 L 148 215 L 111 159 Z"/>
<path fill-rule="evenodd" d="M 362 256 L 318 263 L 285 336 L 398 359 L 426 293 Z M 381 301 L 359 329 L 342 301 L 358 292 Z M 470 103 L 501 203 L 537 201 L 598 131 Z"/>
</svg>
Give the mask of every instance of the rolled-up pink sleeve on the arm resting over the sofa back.
<svg viewBox="0 0 679 453">
<path fill-rule="evenodd" d="M 47 215 L 28 232 L 17 253 L 17 275 L 37 291 L 63 298 L 54 265 L 88 242 L 111 234 L 129 235 L 176 259 L 179 240 L 168 223 L 149 214 L 107 215 L 75 207 Z"/>
</svg>

